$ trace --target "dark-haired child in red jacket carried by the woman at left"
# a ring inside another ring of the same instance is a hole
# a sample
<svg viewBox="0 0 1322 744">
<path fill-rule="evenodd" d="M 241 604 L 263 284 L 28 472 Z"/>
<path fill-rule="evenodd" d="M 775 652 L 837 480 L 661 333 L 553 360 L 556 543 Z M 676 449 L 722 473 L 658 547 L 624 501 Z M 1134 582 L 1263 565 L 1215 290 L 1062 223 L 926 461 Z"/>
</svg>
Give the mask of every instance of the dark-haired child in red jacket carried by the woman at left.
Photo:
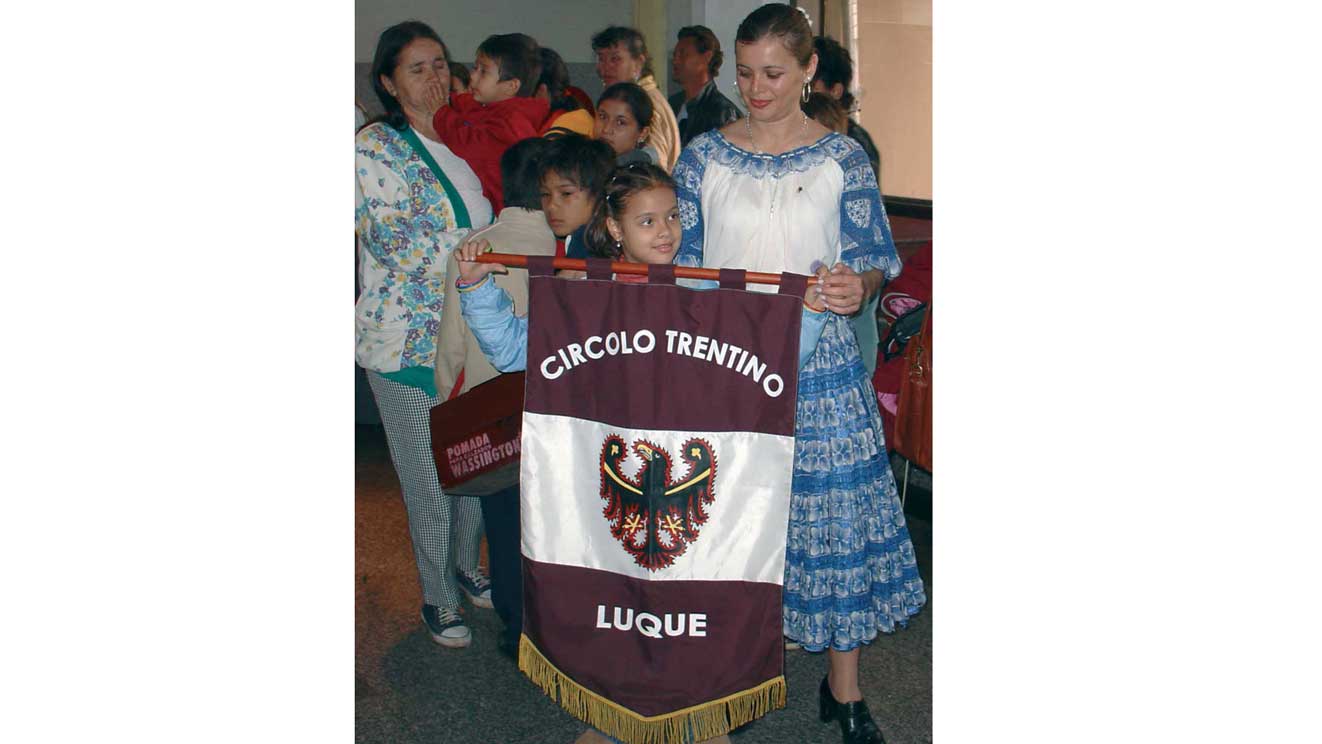
<svg viewBox="0 0 1322 744">
<path fill-rule="evenodd" d="M 493 214 L 504 206 L 500 156 L 518 140 L 538 136 L 550 112 L 550 104 L 533 95 L 541 75 L 541 48 L 530 36 L 489 36 L 477 48 L 468 93 L 451 96 L 432 119 L 440 141 L 477 173 Z"/>
</svg>

